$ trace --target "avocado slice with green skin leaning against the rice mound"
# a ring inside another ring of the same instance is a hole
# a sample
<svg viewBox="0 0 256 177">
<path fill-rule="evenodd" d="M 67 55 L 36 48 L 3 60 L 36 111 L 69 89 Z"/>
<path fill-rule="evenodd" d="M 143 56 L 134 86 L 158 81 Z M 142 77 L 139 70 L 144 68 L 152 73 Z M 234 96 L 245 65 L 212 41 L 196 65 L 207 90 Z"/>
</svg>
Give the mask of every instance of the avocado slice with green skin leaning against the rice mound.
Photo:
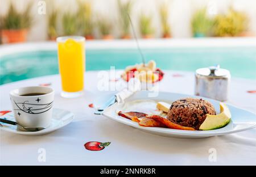
<svg viewBox="0 0 256 177">
<path fill-rule="evenodd" d="M 231 113 L 226 104 L 220 102 L 220 114 L 209 115 L 207 114 L 203 124 L 199 127 L 200 130 L 214 130 L 225 127 L 231 120 Z"/>
</svg>

